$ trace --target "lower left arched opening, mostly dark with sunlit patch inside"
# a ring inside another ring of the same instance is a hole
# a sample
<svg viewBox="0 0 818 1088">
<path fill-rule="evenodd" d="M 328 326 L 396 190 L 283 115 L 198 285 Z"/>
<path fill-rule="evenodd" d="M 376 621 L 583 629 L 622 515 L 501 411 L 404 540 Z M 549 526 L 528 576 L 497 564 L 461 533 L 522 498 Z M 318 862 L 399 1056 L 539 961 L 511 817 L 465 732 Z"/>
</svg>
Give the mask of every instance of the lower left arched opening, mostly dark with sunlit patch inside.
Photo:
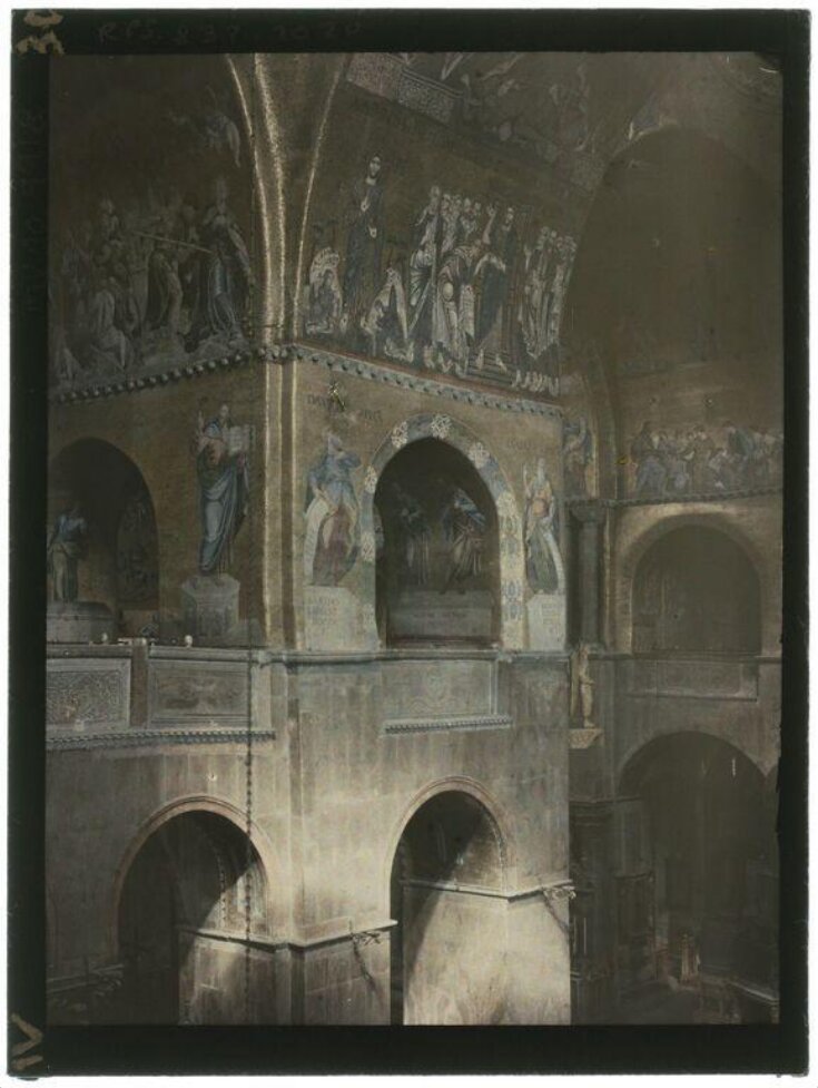
<svg viewBox="0 0 818 1088">
<path fill-rule="evenodd" d="M 236 1023 L 247 1008 L 246 938 L 266 931 L 260 859 L 234 823 L 186 812 L 158 827 L 125 876 L 120 1023 Z"/>
</svg>

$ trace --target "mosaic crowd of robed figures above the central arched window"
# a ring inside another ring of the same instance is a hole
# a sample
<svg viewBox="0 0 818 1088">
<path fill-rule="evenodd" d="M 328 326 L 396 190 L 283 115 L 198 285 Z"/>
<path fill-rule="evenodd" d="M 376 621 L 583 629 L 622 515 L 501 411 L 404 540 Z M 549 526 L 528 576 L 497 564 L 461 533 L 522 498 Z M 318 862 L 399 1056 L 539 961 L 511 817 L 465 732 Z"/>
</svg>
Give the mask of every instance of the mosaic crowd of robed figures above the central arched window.
<svg viewBox="0 0 818 1088">
<path fill-rule="evenodd" d="M 388 234 L 386 164 L 347 188 L 342 243 L 319 245 L 304 333 L 361 354 L 514 389 L 559 391 L 560 323 L 576 244 L 491 196 L 430 186 Z"/>
</svg>

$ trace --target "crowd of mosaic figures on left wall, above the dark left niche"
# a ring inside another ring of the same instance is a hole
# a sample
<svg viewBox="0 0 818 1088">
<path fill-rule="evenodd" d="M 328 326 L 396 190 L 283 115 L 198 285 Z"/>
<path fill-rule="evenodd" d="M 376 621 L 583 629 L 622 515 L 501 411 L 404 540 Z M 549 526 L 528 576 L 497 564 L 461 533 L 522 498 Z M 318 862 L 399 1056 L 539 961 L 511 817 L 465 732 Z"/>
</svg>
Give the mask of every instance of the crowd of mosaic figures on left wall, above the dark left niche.
<svg viewBox="0 0 818 1088">
<path fill-rule="evenodd" d="M 53 369 L 58 384 L 127 376 L 245 342 L 253 274 L 246 241 L 217 178 L 197 209 L 177 190 L 97 216 L 61 254 Z"/>
</svg>

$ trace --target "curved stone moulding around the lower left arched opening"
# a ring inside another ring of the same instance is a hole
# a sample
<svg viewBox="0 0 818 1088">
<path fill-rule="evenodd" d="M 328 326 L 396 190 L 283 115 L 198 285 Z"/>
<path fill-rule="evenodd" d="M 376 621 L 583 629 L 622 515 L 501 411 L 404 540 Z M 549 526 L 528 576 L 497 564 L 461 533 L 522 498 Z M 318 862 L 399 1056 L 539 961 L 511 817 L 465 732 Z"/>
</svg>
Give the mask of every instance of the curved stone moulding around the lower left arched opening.
<svg viewBox="0 0 818 1088">
<path fill-rule="evenodd" d="M 229 801 L 223 801 L 220 798 L 204 794 L 184 797 L 162 805 L 162 807 L 158 808 L 151 816 L 139 825 L 136 834 L 130 839 L 125 853 L 117 865 L 114 873 L 111 894 L 107 912 L 108 944 L 115 955 L 119 943 L 119 909 L 122 899 L 122 890 L 125 888 L 125 882 L 131 865 L 151 835 L 154 835 L 157 831 L 159 831 L 160 827 L 169 823 L 171 820 L 175 820 L 177 816 L 184 816 L 188 813 L 209 813 L 215 816 L 221 816 L 242 835 L 248 835 L 250 844 L 255 850 L 260 863 L 264 886 L 267 890 L 268 900 L 268 902 L 265 903 L 265 906 L 267 908 L 267 913 L 269 917 L 270 879 L 273 874 L 278 872 L 279 866 L 275 861 L 273 844 L 267 839 L 265 833 L 253 821 L 250 821 L 248 826 L 246 814 L 237 805 L 234 805 Z"/>
</svg>

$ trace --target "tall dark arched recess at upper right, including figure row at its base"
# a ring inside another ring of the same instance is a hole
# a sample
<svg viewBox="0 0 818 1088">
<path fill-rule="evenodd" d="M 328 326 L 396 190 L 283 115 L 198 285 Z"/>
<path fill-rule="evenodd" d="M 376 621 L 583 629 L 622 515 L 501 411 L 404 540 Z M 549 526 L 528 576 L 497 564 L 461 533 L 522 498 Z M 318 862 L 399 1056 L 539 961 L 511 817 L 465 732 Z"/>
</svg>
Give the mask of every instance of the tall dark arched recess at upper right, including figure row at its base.
<svg viewBox="0 0 818 1088">
<path fill-rule="evenodd" d="M 598 187 L 563 318 L 599 359 L 622 493 L 775 486 L 782 449 L 781 200 L 718 140 L 681 127 L 631 143 Z M 729 415 L 728 415 L 729 412 Z"/>
</svg>

